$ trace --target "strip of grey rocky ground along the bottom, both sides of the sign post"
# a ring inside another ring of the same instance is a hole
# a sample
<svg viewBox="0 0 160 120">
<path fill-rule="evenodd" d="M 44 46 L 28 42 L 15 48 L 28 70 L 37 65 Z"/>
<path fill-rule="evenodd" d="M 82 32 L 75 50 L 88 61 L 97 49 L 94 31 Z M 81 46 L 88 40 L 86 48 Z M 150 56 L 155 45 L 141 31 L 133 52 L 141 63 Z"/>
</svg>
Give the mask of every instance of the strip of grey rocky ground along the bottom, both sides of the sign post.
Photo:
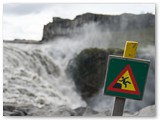
<svg viewBox="0 0 160 120">
<path fill-rule="evenodd" d="M 123 116 L 155 116 L 156 106 L 151 105 L 137 111 L 135 113 L 124 112 Z M 4 104 L 3 105 L 4 116 L 111 116 L 111 110 L 105 110 L 98 112 L 90 107 L 80 107 L 76 109 L 70 109 L 66 106 L 45 106 L 43 108 L 37 108 L 32 105 L 15 105 Z"/>
</svg>

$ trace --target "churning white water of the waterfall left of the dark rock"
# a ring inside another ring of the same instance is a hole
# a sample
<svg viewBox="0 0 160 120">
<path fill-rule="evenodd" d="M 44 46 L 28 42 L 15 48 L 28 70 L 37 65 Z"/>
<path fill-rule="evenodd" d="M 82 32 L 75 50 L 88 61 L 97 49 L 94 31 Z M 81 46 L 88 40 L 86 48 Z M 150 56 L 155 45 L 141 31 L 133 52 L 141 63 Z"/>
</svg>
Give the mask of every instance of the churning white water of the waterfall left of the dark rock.
<svg viewBox="0 0 160 120">
<path fill-rule="evenodd" d="M 3 61 L 4 102 L 37 107 L 86 106 L 75 92 L 74 82 L 66 77 L 65 56 L 51 45 L 4 43 Z"/>
</svg>

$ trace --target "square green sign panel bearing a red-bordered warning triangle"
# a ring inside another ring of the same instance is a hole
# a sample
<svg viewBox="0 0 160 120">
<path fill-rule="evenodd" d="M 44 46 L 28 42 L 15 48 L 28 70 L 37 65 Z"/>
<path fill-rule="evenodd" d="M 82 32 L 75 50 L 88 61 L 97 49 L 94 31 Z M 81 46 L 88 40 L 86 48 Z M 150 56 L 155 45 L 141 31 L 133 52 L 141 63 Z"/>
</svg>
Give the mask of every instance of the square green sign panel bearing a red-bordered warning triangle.
<svg viewBox="0 0 160 120">
<path fill-rule="evenodd" d="M 149 60 L 110 55 L 104 94 L 142 100 Z"/>
</svg>

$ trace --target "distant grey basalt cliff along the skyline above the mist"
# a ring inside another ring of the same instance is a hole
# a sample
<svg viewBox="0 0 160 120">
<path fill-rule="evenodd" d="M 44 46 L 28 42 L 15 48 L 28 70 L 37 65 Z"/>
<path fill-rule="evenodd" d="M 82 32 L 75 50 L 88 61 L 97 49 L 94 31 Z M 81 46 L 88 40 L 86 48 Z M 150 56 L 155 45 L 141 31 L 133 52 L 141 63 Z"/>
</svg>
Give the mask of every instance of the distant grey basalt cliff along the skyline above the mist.
<svg viewBox="0 0 160 120">
<path fill-rule="evenodd" d="M 127 31 L 140 30 L 155 27 L 155 15 L 153 14 L 122 14 L 122 15 L 101 15 L 86 13 L 78 15 L 75 19 L 62 19 L 54 17 L 53 21 L 44 26 L 42 42 L 62 36 L 73 36 L 80 34 L 85 24 L 97 23 L 101 30 Z"/>
</svg>

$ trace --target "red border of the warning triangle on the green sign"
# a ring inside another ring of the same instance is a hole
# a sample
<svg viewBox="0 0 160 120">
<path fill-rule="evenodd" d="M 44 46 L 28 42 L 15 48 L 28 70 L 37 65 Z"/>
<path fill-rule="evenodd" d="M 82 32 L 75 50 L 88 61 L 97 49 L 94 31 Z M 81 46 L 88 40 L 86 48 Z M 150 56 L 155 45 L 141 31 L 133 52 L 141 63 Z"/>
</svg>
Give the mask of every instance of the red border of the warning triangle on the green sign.
<svg viewBox="0 0 160 120">
<path fill-rule="evenodd" d="M 130 91 L 130 90 L 122 90 L 122 89 L 118 89 L 118 88 L 113 88 L 113 86 L 117 83 L 117 81 L 121 78 L 121 76 L 128 70 L 132 83 L 135 87 L 136 91 Z M 108 86 L 107 88 L 108 91 L 114 91 L 114 92 L 121 92 L 121 93 L 127 93 L 127 94 L 134 94 L 134 95 L 140 95 L 140 91 L 139 88 L 137 86 L 135 77 L 133 75 L 132 69 L 130 67 L 130 65 L 128 64 L 121 72 L 120 74 L 114 79 L 114 81 Z"/>
</svg>

